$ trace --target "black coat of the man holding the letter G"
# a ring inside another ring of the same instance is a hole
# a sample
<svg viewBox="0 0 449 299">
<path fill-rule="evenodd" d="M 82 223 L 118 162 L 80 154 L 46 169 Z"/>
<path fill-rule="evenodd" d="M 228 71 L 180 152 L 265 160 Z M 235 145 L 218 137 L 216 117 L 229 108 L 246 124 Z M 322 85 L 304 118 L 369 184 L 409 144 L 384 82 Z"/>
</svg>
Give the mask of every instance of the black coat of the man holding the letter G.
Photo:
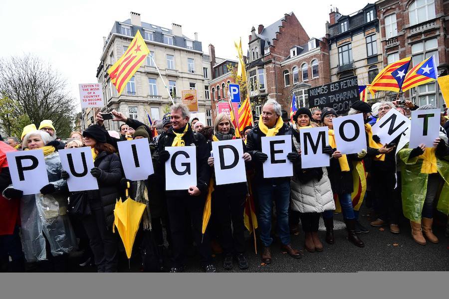
<svg viewBox="0 0 449 299">
<path fill-rule="evenodd" d="M 200 189 L 201 195 L 206 196 L 209 190 L 209 180 L 211 179 L 211 167 L 208 165 L 208 158 L 210 156 L 209 146 L 206 138 L 202 134 L 194 133 L 190 130 L 189 124 L 188 126 L 189 130 L 184 135 L 183 140 L 185 146 L 197 147 L 197 187 Z M 157 146 L 158 153 L 161 150 L 165 150 L 165 147 L 171 147 L 175 137 L 176 135 L 173 133 L 173 128 L 170 128 L 167 132 L 162 133 L 159 137 Z M 164 178 L 164 184 L 162 186 L 165 189 L 165 161 L 159 160 L 159 154 L 155 154 L 154 158 L 157 159 L 159 164 L 155 171 L 157 171 L 158 174 Z M 190 196 L 190 194 L 187 190 L 171 190 L 166 191 L 166 196 L 182 197 Z"/>
</svg>

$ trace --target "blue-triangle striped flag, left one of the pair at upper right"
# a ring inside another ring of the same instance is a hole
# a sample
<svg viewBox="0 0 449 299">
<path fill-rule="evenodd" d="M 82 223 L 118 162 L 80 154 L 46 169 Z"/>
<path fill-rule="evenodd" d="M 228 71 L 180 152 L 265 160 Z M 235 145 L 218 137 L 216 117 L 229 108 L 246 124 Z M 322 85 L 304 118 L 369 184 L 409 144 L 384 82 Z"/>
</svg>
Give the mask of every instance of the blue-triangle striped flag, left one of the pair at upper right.
<svg viewBox="0 0 449 299">
<path fill-rule="evenodd" d="M 407 57 L 387 65 L 371 82 L 368 90 L 374 97 L 379 90 L 399 92 L 402 88 L 412 57 Z"/>
</svg>

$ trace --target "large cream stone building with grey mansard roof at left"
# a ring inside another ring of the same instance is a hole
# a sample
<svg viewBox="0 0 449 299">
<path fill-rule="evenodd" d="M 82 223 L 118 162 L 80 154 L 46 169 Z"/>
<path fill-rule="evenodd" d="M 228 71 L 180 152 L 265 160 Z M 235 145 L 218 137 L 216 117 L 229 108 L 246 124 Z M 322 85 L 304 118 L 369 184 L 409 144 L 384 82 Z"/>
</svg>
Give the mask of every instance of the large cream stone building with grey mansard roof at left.
<svg viewBox="0 0 449 299">
<path fill-rule="evenodd" d="M 160 120 L 171 105 L 164 82 L 153 60 L 148 55 L 136 74 L 130 79 L 120 96 L 111 84 L 107 70 L 123 55 L 140 30 L 150 55 L 154 57 L 173 100 L 181 102 L 181 91 L 196 89 L 199 111 L 211 115 L 208 77 L 211 75 L 210 57 L 204 55 L 198 34 L 191 39 L 182 32 L 182 26 L 172 23 L 172 28 L 141 21 L 139 13 L 131 12 L 131 18 L 115 21 L 108 37 L 104 38 L 101 62 L 97 69 L 98 82 L 102 84 L 106 107 L 102 112 L 115 109 L 127 117 L 148 122 L 145 110 L 152 120 Z M 208 77 L 207 77 L 208 76 Z M 118 130 L 118 123 L 105 122 L 109 130 Z"/>
</svg>

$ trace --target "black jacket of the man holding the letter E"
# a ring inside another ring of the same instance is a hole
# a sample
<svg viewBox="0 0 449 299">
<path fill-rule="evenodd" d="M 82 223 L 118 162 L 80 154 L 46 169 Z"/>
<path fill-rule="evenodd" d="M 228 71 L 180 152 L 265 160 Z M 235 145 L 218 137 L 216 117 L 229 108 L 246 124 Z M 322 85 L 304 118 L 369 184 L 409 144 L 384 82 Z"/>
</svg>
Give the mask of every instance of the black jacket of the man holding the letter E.
<svg viewBox="0 0 449 299">
<path fill-rule="evenodd" d="M 260 120 L 262 121 L 262 120 Z M 281 135 L 292 135 L 291 133 L 291 127 L 287 126 L 287 125 L 283 125 L 282 128 L 279 130 L 279 132 L 277 133 L 276 136 L 281 136 Z M 249 152 L 249 154 L 251 155 L 252 161 L 253 161 L 253 165 L 254 165 L 254 181 L 257 184 L 266 184 L 266 183 L 270 183 L 270 182 L 285 182 L 285 181 L 290 181 L 290 177 L 277 177 L 277 178 L 263 178 L 263 167 L 262 167 L 262 163 L 260 163 L 259 161 L 256 161 L 254 159 L 254 154 L 257 151 L 262 151 L 262 142 L 261 142 L 261 138 L 265 137 L 266 135 L 260 131 L 259 126 L 255 126 L 254 129 L 251 131 L 251 133 L 249 133 L 247 135 L 247 141 L 246 141 L 246 150 L 247 152 Z M 291 151 L 292 152 L 296 152 L 295 146 L 293 145 L 293 140 L 291 142 Z M 269 154 L 269 153 L 266 153 Z"/>
</svg>

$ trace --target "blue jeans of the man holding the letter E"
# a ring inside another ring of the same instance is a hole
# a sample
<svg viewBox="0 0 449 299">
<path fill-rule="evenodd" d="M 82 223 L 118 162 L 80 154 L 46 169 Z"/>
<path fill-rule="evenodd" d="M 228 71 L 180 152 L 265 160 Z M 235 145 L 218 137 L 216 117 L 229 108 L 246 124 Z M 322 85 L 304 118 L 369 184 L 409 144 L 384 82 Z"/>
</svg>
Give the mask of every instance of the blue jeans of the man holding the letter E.
<svg viewBox="0 0 449 299">
<path fill-rule="evenodd" d="M 276 202 L 277 234 L 284 245 L 290 244 L 290 230 L 288 227 L 288 206 L 290 205 L 290 181 L 259 185 L 257 188 L 259 200 L 259 228 L 260 240 L 268 247 L 273 242 L 271 232 L 271 212 L 273 200 Z"/>
</svg>

